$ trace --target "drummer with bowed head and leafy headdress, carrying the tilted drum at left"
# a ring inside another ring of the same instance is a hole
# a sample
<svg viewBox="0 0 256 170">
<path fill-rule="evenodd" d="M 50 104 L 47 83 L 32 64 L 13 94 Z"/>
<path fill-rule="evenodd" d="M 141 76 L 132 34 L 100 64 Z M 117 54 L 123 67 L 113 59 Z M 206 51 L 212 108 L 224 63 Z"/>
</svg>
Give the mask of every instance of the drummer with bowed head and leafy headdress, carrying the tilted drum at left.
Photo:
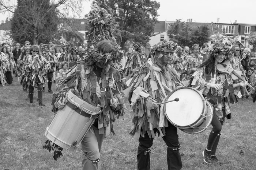
<svg viewBox="0 0 256 170">
<path fill-rule="evenodd" d="M 116 116 L 123 115 L 121 77 L 119 71 L 110 66 L 118 55 L 120 53 L 112 41 L 100 41 L 83 61 L 77 62 L 68 72 L 62 84 L 68 87 L 65 90 L 74 89 L 76 96 L 93 106 L 101 107 L 102 111 L 81 142 L 84 152 L 83 170 L 98 169 L 103 139 L 110 131 L 114 133 L 113 122 Z M 65 106 L 59 99 L 62 95 L 60 93 L 54 103 L 56 109 Z"/>
</svg>

